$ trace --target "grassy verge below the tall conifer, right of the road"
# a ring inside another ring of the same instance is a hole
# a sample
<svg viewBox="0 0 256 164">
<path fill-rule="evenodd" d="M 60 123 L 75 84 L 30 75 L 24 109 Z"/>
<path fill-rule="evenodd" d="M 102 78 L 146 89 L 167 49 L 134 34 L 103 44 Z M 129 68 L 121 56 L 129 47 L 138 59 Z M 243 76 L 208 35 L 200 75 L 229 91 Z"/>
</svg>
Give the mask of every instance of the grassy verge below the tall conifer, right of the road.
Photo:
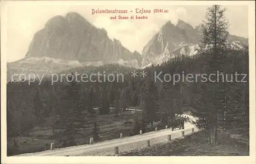
<svg viewBox="0 0 256 164">
<path fill-rule="evenodd" d="M 229 135 L 228 135 L 229 134 Z M 219 132 L 219 142 L 209 146 L 204 130 L 174 139 L 171 143 L 160 143 L 145 149 L 123 152 L 120 156 L 248 156 L 249 133 L 242 129 Z"/>
</svg>

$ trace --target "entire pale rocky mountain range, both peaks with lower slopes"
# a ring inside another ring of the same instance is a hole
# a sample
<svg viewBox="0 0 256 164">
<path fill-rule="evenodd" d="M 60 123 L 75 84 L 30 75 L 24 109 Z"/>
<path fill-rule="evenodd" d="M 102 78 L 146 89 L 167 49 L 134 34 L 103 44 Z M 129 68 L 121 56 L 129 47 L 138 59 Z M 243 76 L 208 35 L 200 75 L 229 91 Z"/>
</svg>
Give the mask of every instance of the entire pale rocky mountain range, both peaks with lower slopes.
<svg viewBox="0 0 256 164">
<path fill-rule="evenodd" d="M 7 63 L 12 74 L 53 74 L 85 65 L 118 63 L 131 67 L 159 64 L 174 56 L 194 55 L 202 38 L 203 25 L 195 29 L 179 20 L 167 21 L 143 47 L 142 54 L 126 49 L 119 40 L 111 40 L 105 29 L 98 29 L 76 12 L 54 16 L 38 31 L 25 58 Z M 233 49 L 242 49 L 248 39 L 229 35 Z"/>
</svg>

